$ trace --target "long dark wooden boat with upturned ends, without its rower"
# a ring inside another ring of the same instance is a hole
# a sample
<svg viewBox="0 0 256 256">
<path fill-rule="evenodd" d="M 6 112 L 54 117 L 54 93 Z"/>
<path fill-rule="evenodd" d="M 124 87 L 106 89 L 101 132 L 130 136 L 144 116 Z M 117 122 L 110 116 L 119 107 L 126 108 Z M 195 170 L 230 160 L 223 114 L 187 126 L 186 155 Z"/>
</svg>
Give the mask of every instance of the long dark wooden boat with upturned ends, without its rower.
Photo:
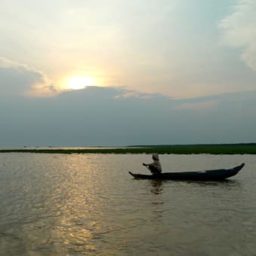
<svg viewBox="0 0 256 256">
<path fill-rule="evenodd" d="M 236 166 L 232 169 L 214 169 L 206 170 L 200 172 L 163 172 L 157 175 L 145 175 L 145 174 L 135 174 L 129 172 L 134 178 L 144 178 L 144 179 L 169 179 L 169 180 L 188 180 L 188 181 L 218 181 L 224 178 L 230 178 L 236 175 L 245 163 Z"/>
</svg>

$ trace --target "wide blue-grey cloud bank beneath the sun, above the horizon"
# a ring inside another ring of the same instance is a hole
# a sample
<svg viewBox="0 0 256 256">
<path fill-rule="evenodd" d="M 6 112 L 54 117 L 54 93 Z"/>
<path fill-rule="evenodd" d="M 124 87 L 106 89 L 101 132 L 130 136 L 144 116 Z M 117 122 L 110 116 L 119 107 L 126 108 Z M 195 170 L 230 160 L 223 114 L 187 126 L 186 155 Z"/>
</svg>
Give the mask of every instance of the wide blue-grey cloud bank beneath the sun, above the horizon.
<svg viewBox="0 0 256 256">
<path fill-rule="evenodd" d="M 8 109 L 0 111 L 2 146 L 256 140 L 255 91 L 171 99 L 161 95 L 146 97 L 142 94 L 141 97 L 117 88 L 88 87 L 62 92 L 55 97 L 17 97 L 13 104 L 9 99 L 0 101 L 0 108 Z M 218 104 L 213 105 L 213 102 Z M 204 110 L 206 105 L 209 108 Z"/>
</svg>

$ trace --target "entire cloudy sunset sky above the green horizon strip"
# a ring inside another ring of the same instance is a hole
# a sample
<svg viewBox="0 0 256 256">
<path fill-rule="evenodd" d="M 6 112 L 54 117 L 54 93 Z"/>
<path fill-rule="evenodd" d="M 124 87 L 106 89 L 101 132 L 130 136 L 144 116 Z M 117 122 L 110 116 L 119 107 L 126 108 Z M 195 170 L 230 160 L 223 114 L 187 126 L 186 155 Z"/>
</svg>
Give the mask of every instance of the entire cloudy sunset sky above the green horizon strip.
<svg viewBox="0 0 256 256">
<path fill-rule="evenodd" d="M 2 0 L 0 147 L 256 142 L 254 0 Z"/>
</svg>

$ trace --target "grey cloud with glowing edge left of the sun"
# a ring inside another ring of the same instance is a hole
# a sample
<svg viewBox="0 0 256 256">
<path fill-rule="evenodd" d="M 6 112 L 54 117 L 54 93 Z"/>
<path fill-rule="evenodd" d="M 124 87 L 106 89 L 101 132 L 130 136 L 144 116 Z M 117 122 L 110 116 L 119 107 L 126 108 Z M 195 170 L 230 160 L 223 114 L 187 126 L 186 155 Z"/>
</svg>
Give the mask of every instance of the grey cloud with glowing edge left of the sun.
<svg viewBox="0 0 256 256">
<path fill-rule="evenodd" d="M 1 95 L 52 96 L 55 87 L 43 72 L 0 56 Z"/>
</svg>

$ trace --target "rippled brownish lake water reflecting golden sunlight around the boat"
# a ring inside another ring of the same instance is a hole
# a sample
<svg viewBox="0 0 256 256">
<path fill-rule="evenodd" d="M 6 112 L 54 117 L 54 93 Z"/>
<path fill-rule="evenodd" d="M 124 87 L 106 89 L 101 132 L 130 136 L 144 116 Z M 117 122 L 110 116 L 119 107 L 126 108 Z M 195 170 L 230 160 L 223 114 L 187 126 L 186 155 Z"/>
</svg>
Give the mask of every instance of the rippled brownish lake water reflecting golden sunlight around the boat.
<svg viewBox="0 0 256 256">
<path fill-rule="evenodd" d="M 228 181 L 135 180 L 146 154 L 0 154 L 0 255 L 256 255 L 256 156 L 160 155 L 166 171 Z"/>
</svg>

